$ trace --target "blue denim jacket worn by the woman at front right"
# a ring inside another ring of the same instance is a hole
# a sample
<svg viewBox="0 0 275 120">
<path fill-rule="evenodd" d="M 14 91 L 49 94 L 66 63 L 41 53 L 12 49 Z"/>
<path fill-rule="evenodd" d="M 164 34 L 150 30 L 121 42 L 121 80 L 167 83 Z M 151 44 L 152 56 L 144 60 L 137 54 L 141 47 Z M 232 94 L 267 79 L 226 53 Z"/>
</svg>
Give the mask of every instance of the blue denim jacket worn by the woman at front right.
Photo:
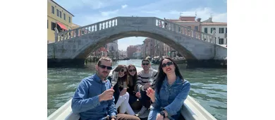
<svg viewBox="0 0 275 120">
<path fill-rule="evenodd" d="M 177 76 L 175 82 L 170 86 L 167 77 L 161 85 L 159 94 L 155 89 L 155 102 L 152 107 L 156 109 L 165 109 L 168 116 L 178 114 L 183 106 L 183 102 L 188 97 L 190 91 L 190 83 L 188 80 L 182 80 Z"/>
</svg>

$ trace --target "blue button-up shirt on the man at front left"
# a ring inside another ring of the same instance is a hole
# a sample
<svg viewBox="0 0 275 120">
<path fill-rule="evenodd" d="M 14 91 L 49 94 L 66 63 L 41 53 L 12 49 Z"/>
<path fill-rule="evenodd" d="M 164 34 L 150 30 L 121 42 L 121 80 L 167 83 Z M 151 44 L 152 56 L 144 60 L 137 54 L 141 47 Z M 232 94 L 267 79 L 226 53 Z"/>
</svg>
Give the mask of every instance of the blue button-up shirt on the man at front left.
<svg viewBox="0 0 275 120">
<path fill-rule="evenodd" d="M 105 119 L 106 116 L 117 114 L 113 100 L 99 102 L 99 95 L 111 88 L 109 80 L 102 81 L 97 74 L 81 80 L 72 100 L 74 114 L 80 114 L 80 119 Z"/>
</svg>

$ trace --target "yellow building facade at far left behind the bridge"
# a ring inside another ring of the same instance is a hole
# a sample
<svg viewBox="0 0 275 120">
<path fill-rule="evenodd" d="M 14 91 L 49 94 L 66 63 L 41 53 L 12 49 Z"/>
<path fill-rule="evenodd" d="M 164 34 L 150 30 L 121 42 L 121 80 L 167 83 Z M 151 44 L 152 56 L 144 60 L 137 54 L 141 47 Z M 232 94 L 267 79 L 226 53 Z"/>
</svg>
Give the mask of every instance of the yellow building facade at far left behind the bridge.
<svg viewBox="0 0 275 120">
<path fill-rule="evenodd" d="M 65 30 L 72 30 L 73 14 L 67 11 L 65 8 L 57 4 L 55 1 L 47 0 L 47 42 L 55 42 L 54 28 L 57 28 L 59 32 Z"/>
</svg>

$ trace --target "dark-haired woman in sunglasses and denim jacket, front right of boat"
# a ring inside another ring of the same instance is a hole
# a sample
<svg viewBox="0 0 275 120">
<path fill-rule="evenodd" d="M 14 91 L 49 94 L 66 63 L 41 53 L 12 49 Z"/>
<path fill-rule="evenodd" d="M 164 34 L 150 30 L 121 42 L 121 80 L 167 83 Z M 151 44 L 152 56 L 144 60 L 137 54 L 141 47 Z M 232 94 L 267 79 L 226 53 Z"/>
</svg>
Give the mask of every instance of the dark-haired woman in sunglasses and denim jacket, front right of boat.
<svg viewBox="0 0 275 120">
<path fill-rule="evenodd" d="M 181 116 L 183 102 L 188 97 L 190 83 L 184 80 L 171 58 L 161 60 L 154 90 L 146 90 L 152 101 L 148 119 L 178 119 Z"/>
</svg>

